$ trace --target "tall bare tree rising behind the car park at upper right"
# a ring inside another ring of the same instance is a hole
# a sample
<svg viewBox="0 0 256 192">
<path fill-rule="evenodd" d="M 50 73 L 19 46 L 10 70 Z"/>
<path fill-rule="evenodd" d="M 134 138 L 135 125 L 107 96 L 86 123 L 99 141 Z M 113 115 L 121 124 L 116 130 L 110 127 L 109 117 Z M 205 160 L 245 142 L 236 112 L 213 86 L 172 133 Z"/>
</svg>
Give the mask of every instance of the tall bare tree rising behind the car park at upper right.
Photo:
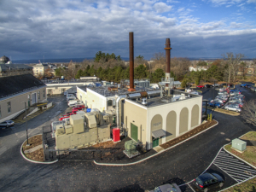
<svg viewBox="0 0 256 192">
<path fill-rule="evenodd" d="M 236 57 L 233 53 L 226 53 L 226 55 L 222 55 L 226 62 L 225 73 L 228 75 L 228 83 L 236 82 L 236 72 L 238 68 L 238 64 L 240 63 L 241 58 L 244 57 L 243 54 L 236 54 Z"/>
</svg>

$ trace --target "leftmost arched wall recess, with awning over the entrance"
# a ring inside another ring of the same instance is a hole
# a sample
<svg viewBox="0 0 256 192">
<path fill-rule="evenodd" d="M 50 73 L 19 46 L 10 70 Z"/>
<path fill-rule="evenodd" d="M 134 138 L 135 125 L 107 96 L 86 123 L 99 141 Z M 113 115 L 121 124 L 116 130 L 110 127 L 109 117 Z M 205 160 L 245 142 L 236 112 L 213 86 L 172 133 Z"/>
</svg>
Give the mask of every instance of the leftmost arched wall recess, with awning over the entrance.
<svg viewBox="0 0 256 192">
<path fill-rule="evenodd" d="M 160 114 L 154 115 L 151 120 L 151 143 L 153 148 L 161 144 L 161 137 L 166 136 L 163 131 L 163 118 Z"/>
</svg>

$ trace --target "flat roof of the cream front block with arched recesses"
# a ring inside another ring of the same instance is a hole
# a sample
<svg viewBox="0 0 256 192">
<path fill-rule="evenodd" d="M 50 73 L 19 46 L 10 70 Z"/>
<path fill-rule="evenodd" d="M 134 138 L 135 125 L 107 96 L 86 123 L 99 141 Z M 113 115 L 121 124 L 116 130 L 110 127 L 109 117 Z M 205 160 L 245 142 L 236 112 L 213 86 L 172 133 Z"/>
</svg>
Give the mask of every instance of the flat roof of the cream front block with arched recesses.
<svg viewBox="0 0 256 192">
<path fill-rule="evenodd" d="M 131 100 L 133 102 L 137 102 L 138 104 L 142 105 L 143 107 L 146 107 L 146 108 L 153 108 L 153 107 L 156 107 L 156 106 L 160 106 L 160 105 L 166 105 L 168 103 L 173 103 L 173 102 L 183 102 L 183 101 L 187 101 L 189 99 L 193 99 L 195 97 L 202 97 L 201 95 L 194 95 L 194 94 L 190 94 L 190 93 L 187 93 L 187 92 L 184 92 L 184 91 L 180 91 L 180 90 L 172 90 L 171 91 L 171 96 L 163 96 L 163 97 L 160 97 L 160 96 L 155 96 L 155 97 L 151 97 L 149 99 L 147 99 L 147 104 L 146 105 L 143 105 L 142 102 L 143 100 L 140 98 L 140 99 L 128 99 L 128 100 Z M 183 98 L 182 100 L 175 100 L 174 101 L 174 97 L 177 98 L 177 96 L 182 96 L 183 94 Z"/>
</svg>

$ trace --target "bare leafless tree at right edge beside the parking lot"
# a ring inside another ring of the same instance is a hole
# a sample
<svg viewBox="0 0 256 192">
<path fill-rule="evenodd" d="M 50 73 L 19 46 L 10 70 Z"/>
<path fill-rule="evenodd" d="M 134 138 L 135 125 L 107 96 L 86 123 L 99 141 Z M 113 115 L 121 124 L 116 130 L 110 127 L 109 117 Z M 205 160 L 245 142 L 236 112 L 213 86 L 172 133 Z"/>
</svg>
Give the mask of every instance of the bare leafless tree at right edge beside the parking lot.
<svg viewBox="0 0 256 192">
<path fill-rule="evenodd" d="M 256 126 L 256 100 L 250 100 L 243 105 L 243 111 L 241 112 L 241 117 L 248 124 Z"/>
</svg>

